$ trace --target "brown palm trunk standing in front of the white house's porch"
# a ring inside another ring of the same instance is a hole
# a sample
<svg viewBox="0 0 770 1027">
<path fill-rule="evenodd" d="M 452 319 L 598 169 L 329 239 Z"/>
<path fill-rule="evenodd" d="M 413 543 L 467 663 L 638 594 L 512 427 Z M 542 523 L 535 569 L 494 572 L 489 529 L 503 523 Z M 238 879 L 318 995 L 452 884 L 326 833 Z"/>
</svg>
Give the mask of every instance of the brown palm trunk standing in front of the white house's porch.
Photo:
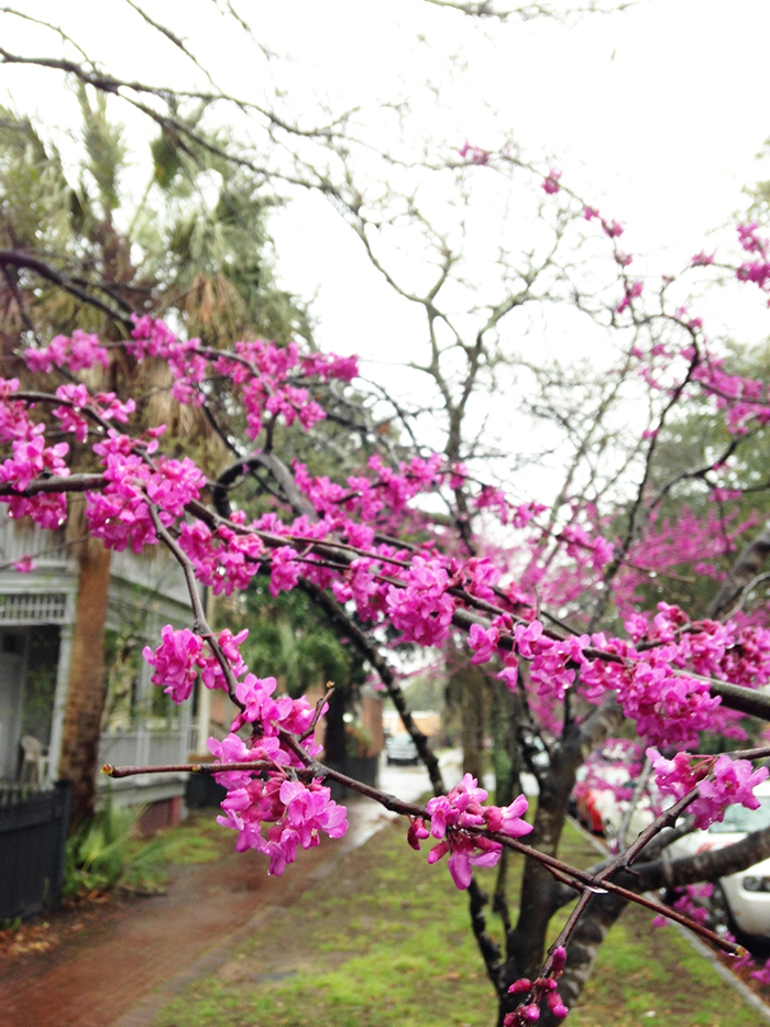
<svg viewBox="0 0 770 1027">
<path fill-rule="evenodd" d="M 81 543 L 73 626 L 69 686 L 64 712 L 59 777 L 73 783 L 70 827 L 94 816 L 101 714 L 105 707 L 105 624 L 110 551 L 97 538 Z"/>
</svg>

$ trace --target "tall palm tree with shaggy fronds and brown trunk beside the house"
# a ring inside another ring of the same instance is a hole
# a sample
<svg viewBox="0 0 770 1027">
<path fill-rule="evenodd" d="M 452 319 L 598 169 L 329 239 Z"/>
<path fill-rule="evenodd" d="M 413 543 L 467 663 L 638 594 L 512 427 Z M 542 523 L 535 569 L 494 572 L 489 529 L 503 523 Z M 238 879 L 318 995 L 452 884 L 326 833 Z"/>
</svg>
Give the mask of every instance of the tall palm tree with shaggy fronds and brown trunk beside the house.
<svg viewBox="0 0 770 1027">
<path fill-rule="evenodd" d="M 70 167 L 30 119 L 0 109 L 0 374 L 24 374 L 18 352 L 75 328 L 125 337 L 131 310 L 180 323 L 218 346 L 261 332 L 286 339 L 304 312 L 274 284 L 255 185 L 209 152 L 161 135 L 151 146 L 146 186 L 132 204 L 122 129 L 107 99 L 85 87 L 79 163 Z M 140 416 L 163 419 L 204 467 L 221 465 L 221 443 L 200 413 L 165 403 L 168 371 L 138 369 L 116 351 L 106 381 L 133 393 Z M 169 423 L 169 416 L 173 418 Z M 184 424 L 182 423 L 184 419 Z M 103 638 L 110 554 L 68 518 L 78 562 L 69 688 L 59 775 L 74 783 L 73 822 L 90 818 L 105 706 Z"/>
</svg>

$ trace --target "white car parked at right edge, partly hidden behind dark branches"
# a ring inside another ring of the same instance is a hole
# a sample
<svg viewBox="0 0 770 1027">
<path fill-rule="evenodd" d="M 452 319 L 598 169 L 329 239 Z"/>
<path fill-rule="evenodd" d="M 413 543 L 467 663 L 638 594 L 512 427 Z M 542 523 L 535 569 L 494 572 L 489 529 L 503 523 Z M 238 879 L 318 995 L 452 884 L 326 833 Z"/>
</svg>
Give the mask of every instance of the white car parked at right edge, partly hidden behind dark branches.
<svg viewBox="0 0 770 1027">
<path fill-rule="evenodd" d="M 671 855 L 675 859 L 723 849 L 752 831 L 770 827 L 770 779 L 757 785 L 754 791 L 760 802 L 758 809 L 729 806 L 721 823 L 712 823 L 706 831 L 693 831 L 672 842 Z M 747 937 L 770 938 L 770 860 L 716 882 L 711 908 L 717 927 L 724 926 L 733 933 Z"/>
</svg>

